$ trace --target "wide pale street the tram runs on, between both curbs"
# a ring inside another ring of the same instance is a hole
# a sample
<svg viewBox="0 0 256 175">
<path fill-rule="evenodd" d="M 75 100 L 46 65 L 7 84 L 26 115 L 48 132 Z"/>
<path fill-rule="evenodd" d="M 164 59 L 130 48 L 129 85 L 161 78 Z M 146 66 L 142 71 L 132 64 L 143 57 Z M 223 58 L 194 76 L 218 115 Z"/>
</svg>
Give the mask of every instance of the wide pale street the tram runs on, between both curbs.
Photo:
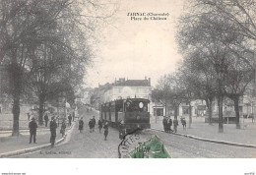
<svg viewBox="0 0 256 175">
<path fill-rule="evenodd" d="M 35 152 L 23 154 L 16 157 L 21 158 L 117 158 L 118 145 L 121 140 L 118 138 L 118 130 L 110 128 L 107 141 L 103 140 L 103 134 L 99 134 L 97 125 L 96 131 L 90 133 L 88 122 L 89 119 L 96 116 L 96 111 L 86 112 L 80 110 L 80 116 L 83 116 L 85 128 L 83 133 L 79 133 L 78 122 L 68 134 L 66 141 L 53 148 L 45 148 Z M 157 134 L 173 158 L 250 158 L 256 157 L 255 148 L 241 146 L 226 146 L 213 144 L 202 141 L 191 140 L 188 138 L 174 136 L 171 134 L 143 131 L 139 134 L 138 142 L 144 142 L 151 136 Z M 129 139 L 128 142 L 131 143 Z M 129 150 L 138 145 L 131 143 L 128 145 Z M 122 151 L 122 150 L 121 150 Z M 123 155 L 123 154 L 122 154 Z"/>
</svg>

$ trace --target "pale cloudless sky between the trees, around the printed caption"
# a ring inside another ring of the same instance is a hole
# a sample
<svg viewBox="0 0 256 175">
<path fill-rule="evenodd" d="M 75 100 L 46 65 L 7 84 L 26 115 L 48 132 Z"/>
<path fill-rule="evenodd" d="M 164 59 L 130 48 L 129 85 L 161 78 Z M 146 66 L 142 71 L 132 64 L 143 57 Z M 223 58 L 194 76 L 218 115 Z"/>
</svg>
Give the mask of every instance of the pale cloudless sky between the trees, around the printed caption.
<svg viewBox="0 0 256 175">
<path fill-rule="evenodd" d="M 119 78 L 143 80 L 147 77 L 155 87 L 160 76 L 173 72 L 182 58 L 175 42 L 175 27 L 183 1 L 120 0 L 118 3 L 115 21 L 103 29 L 104 37 L 97 44 L 94 66 L 86 75 L 86 86 L 97 87 Z M 169 15 L 164 17 L 165 21 L 134 21 L 128 13 Z"/>
</svg>

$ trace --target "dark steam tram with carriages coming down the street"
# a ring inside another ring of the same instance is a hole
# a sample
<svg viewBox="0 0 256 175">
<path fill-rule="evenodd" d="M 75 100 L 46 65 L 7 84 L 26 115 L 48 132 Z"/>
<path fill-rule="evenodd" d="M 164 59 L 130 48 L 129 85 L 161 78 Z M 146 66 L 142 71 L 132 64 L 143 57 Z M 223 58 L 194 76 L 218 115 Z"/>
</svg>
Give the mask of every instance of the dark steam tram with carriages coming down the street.
<svg viewBox="0 0 256 175">
<path fill-rule="evenodd" d="M 145 98 L 117 99 L 100 105 L 100 118 L 103 122 L 126 133 L 136 129 L 149 129 L 150 100 Z"/>
</svg>

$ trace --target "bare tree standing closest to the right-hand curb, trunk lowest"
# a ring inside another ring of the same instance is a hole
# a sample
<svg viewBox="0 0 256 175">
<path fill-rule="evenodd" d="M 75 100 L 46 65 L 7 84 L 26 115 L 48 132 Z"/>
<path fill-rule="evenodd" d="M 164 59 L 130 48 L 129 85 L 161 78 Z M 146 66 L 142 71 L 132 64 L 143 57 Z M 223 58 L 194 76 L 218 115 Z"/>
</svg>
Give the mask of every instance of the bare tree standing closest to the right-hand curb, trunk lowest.
<svg viewBox="0 0 256 175">
<path fill-rule="evenodd" d="M 185 55 L 193 55 L 193 52 L 200 50 L 201 58 L 208 60 L 207 63 L 214 70 L 212 75 L 217 85 L 219 132 L 223 132 L 223 100 L 227 79 L 231 76 L 228 74 L 232 74 L 228 70 L 230 63 L 234 61 L 233 45 L 242 45 L 245 37 L 229 19 L 220 16 L 219 12 L 212 11 L 211 8 L 206 8 L 205 4 L 200 5 L 196 3 L 193 6 L 195 11 L 181 18 L 178 42 Z M 237 54 L 236 58 L 241 59 Z"/>
</svg>

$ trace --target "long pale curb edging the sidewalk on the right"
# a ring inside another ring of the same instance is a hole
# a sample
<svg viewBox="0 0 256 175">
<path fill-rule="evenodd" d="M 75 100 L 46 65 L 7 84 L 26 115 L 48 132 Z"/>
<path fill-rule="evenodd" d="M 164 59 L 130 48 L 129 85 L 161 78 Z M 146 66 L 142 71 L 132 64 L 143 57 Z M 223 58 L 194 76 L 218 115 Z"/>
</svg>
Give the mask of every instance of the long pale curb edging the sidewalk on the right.
<svg viewBox="0 0 256 175">
<path fill-rule="evenodd" d="M 159 129 L 155 129 L 155 128 L 152 128 L 151 130 L 155 130 L 155 131 L 159 131 L 159 132 L 165 133 L 164 131 L 159 130 Z M 199 137 L 195 137 L 195 136 L 191 136 L 191 135 L 185 135 L 185 134 L 180 134 L 180 133 L 168 133 L 168 134 L 182 136 L 182 137 L 185 137 L 185 138 L 189 138 L 189 139 L 193 139 L 193 140 L 198 140 L 198 141 L 204 141 L 204 142 L 208 142 L 208 143 L 223 144 L 223 145 L 228 145 L 228 146 L 243 146 L 243 147 L 253 147 L 253 148 L 256 148 L 255 145 L 244 145 L 244 144 L 230 143 L 230 142 L 226 142 L 226 141 L 210 140 L 210 139 L 199 138 Z"/>
</svg>

